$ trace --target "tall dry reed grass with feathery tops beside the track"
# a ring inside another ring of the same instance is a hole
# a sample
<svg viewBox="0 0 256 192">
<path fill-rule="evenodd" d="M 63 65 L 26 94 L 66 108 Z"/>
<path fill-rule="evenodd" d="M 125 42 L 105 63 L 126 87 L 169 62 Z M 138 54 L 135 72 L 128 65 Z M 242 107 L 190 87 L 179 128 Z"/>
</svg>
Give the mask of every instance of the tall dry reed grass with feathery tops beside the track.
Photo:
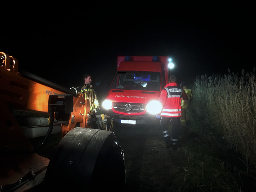
<svg viewBox="0 0 256 192">
<path fill-rule="evenodd" d="M 197 77 L 192 107 L 219 131 L 248 164 L 256 166 L 256 83 L 253 72 L 242 70 Z"/>
</svg>

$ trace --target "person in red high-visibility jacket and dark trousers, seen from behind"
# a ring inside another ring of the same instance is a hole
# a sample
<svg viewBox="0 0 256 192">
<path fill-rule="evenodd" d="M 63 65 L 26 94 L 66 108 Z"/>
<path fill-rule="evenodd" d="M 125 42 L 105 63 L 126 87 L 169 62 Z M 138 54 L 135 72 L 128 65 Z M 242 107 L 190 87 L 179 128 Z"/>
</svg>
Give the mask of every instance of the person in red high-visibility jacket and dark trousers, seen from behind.
<svg viewBox="0 0 256 192">
<path fill-rule="evenodd" d="M 162 103 L 160 125 L 166 143 L 166 148 L 172 146 L 176 148 L 178 141 L 178 131 L 180 125 L 180 117 L 182 116 L 181 99 L 187 100 L 185 91 L 177 86 L 176 77 L 170 76 L 169 83 L 161 91 L 158 101 Z M 172 125 L 172 137 L 169 136 L 168 124 Z"/>
</svg>

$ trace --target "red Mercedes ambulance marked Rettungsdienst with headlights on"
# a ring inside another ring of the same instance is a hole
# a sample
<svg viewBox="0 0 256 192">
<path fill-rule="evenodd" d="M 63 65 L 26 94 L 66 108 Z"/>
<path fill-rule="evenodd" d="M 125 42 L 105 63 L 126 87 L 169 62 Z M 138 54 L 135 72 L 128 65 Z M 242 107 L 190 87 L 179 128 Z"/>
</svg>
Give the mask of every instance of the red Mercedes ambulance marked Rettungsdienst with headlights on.
<svg viewBox="0 0 256 192">
<path fill-rule="evenodd" d="M 118 56 L 117 72 L 102 103 L 115 126 L 159 125 L 157 100 L 168 83 L 169 57 Z"/>
</svg>

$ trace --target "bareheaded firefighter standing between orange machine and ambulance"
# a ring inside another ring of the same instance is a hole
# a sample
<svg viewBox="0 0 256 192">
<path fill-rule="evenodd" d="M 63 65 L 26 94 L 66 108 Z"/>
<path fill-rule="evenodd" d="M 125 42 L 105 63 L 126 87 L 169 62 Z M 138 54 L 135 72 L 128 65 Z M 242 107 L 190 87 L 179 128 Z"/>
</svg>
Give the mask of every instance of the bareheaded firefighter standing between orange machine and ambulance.
<svg viewBox="0 0 256 192">
<path fill-rule="evenodd" d="M 76 89 L 77 92 L 82 94 L 85 94 L 85 98 L 89 99 L 90 102 L 90 112 L 93 113 L 93 111 L 96 111 L 96 109 L 99 109 L 99 102 L 96 96 L 95 91 L 92 89 L 92 85 L 90 84 L 92 79 L 91 76 L 89 74 L 85 74 L 83 76 L 84 79 L 84 83 L 82 83 L 81 85 L 79 85 Z"/>
</svg>

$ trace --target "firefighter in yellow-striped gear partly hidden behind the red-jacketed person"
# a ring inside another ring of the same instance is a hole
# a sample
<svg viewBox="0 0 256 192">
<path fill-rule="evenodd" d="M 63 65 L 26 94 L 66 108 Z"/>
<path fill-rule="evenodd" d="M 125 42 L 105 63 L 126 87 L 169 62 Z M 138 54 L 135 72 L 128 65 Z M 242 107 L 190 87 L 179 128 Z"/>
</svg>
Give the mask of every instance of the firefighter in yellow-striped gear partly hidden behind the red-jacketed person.
<svg viewBox="0 0 256 192">
<path fill-rule="evenodd" d="M 188 99 L 187 100 L 181 100 L 181 108 L 182 108 L 182 117 L 180 118 L 180 125 L 186 126 L 190 125 L 189 117 L 187 115 L 187 110 L 190 106 L 191 101 L 193 100 L 193 94 L 191 89 L 187 88 L 187 85 L 185 82 L 180 83 L 180 88 L 182 88 L 185 93 L 187 94 Z"/>
</svg>

